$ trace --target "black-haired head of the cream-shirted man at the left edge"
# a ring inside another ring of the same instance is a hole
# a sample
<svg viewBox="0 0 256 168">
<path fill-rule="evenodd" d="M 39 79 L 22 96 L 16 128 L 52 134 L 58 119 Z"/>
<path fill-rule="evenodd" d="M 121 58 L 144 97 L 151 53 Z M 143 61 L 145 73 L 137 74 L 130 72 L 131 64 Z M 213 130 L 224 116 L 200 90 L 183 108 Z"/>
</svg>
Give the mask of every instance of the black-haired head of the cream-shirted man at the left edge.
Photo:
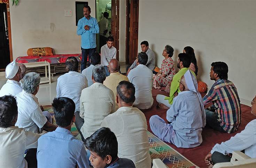
<svg viewBox="0 0 256 168">
<path fill-rule="evenodd" d="M 15 118 L 18 115 L 18 107 L 15 97 L 0 97 L 0 127 L 7 128 L 14 126 Z"/>
</svg>

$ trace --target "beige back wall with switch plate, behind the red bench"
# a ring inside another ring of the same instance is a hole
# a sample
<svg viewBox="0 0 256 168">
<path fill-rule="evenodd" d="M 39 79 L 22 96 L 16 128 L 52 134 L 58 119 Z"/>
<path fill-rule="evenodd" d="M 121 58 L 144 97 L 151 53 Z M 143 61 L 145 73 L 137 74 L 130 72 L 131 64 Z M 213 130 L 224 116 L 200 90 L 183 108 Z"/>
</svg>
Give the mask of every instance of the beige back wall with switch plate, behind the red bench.
<svg viewBox="0 0 256 168">
<path fill-rule="evenodd" d="M 75 1 L 22 0 L 18 6 L 10 5 L 13 59 L 27 55 L 32 47 L 49 46 L 55 54 L 81 53 Z M 86 1 L 95 17 L 95 0 Z M 64 16 L 65 9 L 72 10 L 72 17 Z"/>
</svg>

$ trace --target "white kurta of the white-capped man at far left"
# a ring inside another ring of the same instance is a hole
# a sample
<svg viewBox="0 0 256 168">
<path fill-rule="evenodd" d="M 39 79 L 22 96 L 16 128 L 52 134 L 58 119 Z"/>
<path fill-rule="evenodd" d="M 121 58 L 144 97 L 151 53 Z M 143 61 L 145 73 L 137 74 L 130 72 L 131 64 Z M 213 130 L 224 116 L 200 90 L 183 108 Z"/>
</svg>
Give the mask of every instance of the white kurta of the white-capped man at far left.
<svg viewBox="0 0 256 168">
<path fill-rule="evenodd" d="M 8 79 L 5 85 L 0 90 L 0 97 L 5 95 L 17 95 L 22 91 L 21 83 L 15 80 Z"/>
</svg>

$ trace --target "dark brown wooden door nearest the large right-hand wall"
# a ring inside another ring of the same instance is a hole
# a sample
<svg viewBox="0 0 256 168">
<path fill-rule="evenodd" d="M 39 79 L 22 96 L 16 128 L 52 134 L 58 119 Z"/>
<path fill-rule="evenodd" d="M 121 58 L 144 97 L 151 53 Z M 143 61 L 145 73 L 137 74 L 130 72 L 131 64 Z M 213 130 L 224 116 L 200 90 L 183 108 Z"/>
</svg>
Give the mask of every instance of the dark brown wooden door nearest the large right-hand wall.
<svg viewBox="0 0 256 168">
<path fill-rule="evenodd" d="M 138 55 L 139 0 L 127 0 L 126 63 L 132 64 Z"/>
</svg>

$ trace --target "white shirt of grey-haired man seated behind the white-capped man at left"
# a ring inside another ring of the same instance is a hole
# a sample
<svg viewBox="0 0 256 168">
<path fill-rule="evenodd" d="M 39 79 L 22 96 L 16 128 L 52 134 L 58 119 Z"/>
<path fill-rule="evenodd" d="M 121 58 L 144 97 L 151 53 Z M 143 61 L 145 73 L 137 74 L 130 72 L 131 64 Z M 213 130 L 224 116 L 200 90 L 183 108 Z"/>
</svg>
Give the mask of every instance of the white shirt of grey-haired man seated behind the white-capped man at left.
<svg viewBox="0 0 256 168">
<path fill-rule="evenodd" d="M 15 126 L 24 128 L 26 131 L 39 133 L 47 122 L 47 118 L 42 114 L 42 110 L 37 98 L 22 90 L 16 95 L 18 106 L 18 119 Z"/>
</svg>

